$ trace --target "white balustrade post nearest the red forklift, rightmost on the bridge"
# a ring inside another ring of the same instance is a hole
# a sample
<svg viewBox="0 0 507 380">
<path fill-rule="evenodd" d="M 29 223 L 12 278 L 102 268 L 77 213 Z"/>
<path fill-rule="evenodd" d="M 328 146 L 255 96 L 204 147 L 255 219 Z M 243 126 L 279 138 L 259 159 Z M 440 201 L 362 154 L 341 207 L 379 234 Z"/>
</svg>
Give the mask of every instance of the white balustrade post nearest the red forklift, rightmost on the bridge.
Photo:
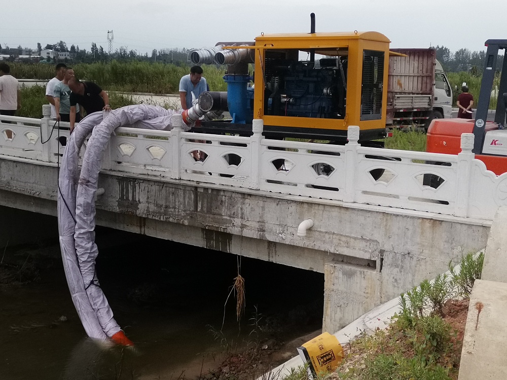
<svg viewBox="0 0 507 380">
<path fill-rule="evenodd" d="M 456 216 L 467 217 L 470 198 L 470 187 L 472 186 L 472 162 L 475 154 L 474 134 L 461 134 L 461 153 L 458 154 L 457 163 L 457 184 L 456 184 L 456 206 L 454 214 Z"/>
</svg>

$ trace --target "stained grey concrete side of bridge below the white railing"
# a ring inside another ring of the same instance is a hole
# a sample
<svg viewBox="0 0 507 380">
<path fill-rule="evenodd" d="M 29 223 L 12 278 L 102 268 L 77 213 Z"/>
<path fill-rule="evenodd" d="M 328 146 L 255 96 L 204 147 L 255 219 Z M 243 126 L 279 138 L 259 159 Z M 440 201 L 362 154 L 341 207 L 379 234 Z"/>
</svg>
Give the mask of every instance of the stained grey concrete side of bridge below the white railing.
<svg viewBox="0 0 507 380">
<path fill-rule="evenodd" d="M 4 246 L 27 217 L 10 208 L 56 216 L 57 167 L 0 158 L 0 173 Z M 330 332 L 485 248 L 491 225 L 118 172 L 103 172 L 99 187 L 99 225 L 324 273 L 323 330 Z M 308 218 L 314 226 L 297 236 Z M 57 234 L 41 223 L 38 231 Z"/>
</svg>

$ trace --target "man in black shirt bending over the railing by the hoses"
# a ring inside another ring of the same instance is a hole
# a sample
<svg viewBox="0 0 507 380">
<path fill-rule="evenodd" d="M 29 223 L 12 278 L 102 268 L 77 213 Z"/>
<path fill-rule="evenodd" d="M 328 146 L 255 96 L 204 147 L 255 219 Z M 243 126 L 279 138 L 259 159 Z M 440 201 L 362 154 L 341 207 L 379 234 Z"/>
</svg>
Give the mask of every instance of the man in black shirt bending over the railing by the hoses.
<svg viewBox="0 0 507 380">
<path fill-rule="evenodd" d="M 68 82 L 70 88 L 70 132 L 76 123 L 76 104 L 80 104 L 86 115 L 98 111 L 110 111 L 107 93 L 93 82 L 80 82 L 73 78 Z"/>
</svg>

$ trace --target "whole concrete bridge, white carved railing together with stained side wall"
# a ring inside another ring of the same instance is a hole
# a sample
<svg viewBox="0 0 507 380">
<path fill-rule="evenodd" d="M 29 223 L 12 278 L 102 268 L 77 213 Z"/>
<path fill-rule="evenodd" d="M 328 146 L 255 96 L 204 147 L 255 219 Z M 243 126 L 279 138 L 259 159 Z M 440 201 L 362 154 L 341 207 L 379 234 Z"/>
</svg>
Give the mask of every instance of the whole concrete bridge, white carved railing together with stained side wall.
<svg viewBox="0 0 507 380">
<path fill-rule="evenodd" d="M 12 208 L 56 215 L 68 136 L 51 135 L 49 119 L 10 118 L 2 117 L 16 124 L 0 124 L 0 205 L 10 208 L 0 214 L 4 241 L 16 224 L 5 222 L 8 212 L 15 220 Z M 386 151 L 358 145 L 354 128 L 345 146 L 266 140 L 261 131 L 257 121 L 251 138 L 202 134 L 206 143 L 198 143 L 180 129 L 117 129 L 99 178 L 97 224 L 324 273 L 323 329 L 337 331 L 484 248 L 506 202 L 507 178 L 473 158 L 473 136 L 464 136 L 459 156 L 391 150 L 392 160 L 380 160 Z M 196 149 L 205 162 L 192 158 Z M 276 170 L 277 159 L 285 170 Z M 322 174 L 319 165 L 333 170 Z M 379 168 L 389 179 L 374 179 Z M 424 173 L 445 181 L 423 186 Z M 314 225 L 300 237 L 308 218 Z"/>
</svg>

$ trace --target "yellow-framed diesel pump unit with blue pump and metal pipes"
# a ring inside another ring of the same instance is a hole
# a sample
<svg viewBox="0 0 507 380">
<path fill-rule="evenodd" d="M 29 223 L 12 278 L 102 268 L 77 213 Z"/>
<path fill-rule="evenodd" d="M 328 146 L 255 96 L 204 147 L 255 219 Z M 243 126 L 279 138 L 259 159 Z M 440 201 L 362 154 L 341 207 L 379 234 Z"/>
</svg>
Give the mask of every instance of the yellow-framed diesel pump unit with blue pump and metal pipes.
<svg viewBox="0 0 507 380">
<path fill-rule="evenodd" d="M 269 138 L 345 143 L 349 125 L 359 126 L 361 142 L 385 137 L 389 39 L 374 31 L 316 33 L 314 25 L 312 17 L 310 33 L 262 34 L 192 52 L 193 64 L 228 65 L 228 90 L 201 94 L 185 122 L 228 110 L 232 120 L 205 120 L 201 130 L 249 135 L 252 120 L 263 119 Z"/>
</svg>

